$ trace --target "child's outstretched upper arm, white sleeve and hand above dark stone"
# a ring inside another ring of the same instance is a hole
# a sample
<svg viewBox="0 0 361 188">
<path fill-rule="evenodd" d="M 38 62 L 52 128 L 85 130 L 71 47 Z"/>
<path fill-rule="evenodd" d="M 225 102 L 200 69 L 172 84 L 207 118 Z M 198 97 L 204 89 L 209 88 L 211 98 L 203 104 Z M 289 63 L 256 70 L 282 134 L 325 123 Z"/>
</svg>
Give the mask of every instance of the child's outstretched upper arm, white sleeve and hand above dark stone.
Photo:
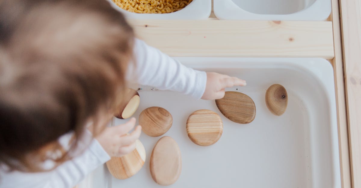
<svg viewBox="0 0 361 188">
<path fill-rule="evenodd" d="M 136 67 L 130 64 L 127 77 L 139 84 L 178 91 L 196 99 L 222 98 L 224 88 L 245 85 L 244 80 L 236 77 L 188 68 L 138 39 L 134 54 Z"/>
</svg>

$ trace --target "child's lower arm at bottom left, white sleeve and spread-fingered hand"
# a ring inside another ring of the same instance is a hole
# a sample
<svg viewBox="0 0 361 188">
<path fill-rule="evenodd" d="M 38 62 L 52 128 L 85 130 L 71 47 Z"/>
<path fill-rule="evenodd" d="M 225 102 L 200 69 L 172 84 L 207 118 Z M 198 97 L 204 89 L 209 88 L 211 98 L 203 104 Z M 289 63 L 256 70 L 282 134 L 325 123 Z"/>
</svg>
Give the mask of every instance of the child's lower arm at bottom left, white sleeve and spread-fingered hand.
<svg viewBox="0 0 361 188">
<path fill-rule="evenodd" d="M 74 187 L 89 173 L 110 160 L 110 156 L 120 157 L 134 150 L 135 140 L 139 138 L 141 133 L 141 127 L 137 126 L 132 133 L 127 135 L 134 126 L 135 118 L 132 118 L 125 124 L 107 127 L 96 139 L 93 139 L 91 133 L 87 131 L 84 138 L 78 142 L 78 147 L 87 147 L 86 150 L 52 171 L 25 173 L 19 171 L 6 172 L 6 170 L 0 169 L 0 187 Z M 71 134 L 64 135 L 60 138 L 60 143 L 65 146 L 70 139 Z"/>
</svg>

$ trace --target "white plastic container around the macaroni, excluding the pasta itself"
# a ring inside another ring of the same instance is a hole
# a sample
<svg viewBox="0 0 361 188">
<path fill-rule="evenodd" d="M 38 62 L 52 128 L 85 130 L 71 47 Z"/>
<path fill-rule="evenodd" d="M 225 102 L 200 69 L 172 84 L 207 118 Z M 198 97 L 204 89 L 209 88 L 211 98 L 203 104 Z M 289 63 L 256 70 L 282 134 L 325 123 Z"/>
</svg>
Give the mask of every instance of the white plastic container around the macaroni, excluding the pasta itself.
<svg viewBox="0 0 361 188">
<path fill-rule="evenodd" d="M 120 8 L 112 0 L 107 1 L 127 19 L 207 19 L 212 11 L 212 0 L 193 0 L 183 9 L 166 14 L 132 13 Z"/>
</svg>

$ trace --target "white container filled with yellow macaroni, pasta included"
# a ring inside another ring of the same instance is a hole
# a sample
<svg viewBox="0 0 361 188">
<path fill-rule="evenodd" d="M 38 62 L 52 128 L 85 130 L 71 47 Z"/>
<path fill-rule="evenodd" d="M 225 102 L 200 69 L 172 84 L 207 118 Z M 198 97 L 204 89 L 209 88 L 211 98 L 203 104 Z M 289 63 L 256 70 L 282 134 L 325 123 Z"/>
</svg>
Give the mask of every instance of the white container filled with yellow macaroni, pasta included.
<svg viewBox="0 0 361 188">
<path fill-rule="evenodd" d="M 207 19 L 212 0 L 107 0 L 127 19 Z"/>
</svg>

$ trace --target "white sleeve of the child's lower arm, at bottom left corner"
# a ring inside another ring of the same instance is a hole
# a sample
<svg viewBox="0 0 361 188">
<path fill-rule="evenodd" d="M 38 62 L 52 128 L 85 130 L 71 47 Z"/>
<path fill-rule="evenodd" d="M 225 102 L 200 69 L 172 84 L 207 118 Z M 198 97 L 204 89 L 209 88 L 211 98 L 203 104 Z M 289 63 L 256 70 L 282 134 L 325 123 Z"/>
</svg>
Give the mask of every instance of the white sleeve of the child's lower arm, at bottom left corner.
<svg viewBox="0 0 361 188">
<path fill-rule="evenodd" d="M 86 134 L 91 136 L 89 132 Z M 108 160 L 110 160 L 108 153 L 96 139 L 92 139 L 86 151 L 52 171 L 42 173 L 0 171 L 0 188 L 72 188 Z"/>
</svg>

